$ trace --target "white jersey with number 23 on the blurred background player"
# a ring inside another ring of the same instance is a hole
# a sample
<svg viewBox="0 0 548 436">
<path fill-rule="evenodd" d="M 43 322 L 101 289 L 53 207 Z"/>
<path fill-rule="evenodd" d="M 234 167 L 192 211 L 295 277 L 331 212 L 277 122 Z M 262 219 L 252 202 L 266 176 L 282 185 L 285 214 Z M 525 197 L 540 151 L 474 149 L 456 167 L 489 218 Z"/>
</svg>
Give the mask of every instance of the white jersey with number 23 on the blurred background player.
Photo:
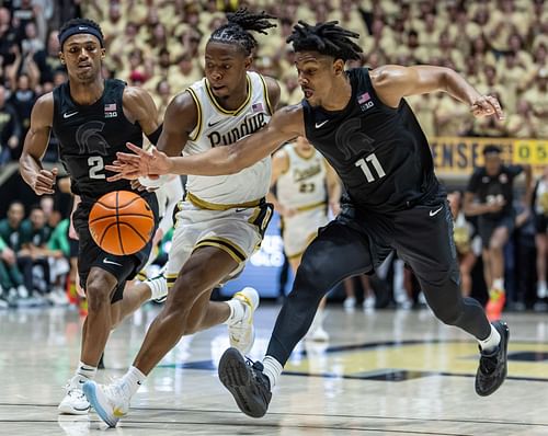
<svg viewBox="0 0 548 436">
<path fill-rule="evenodd" d="M 289 160 L 286 172 L 276 182 L 279 204 L 297 210 L 307 210 L 327 203 L 326 160 L 313 149 L 313 154 L 304 158 L 288 144 L 284 147 Z"/>
</svg>

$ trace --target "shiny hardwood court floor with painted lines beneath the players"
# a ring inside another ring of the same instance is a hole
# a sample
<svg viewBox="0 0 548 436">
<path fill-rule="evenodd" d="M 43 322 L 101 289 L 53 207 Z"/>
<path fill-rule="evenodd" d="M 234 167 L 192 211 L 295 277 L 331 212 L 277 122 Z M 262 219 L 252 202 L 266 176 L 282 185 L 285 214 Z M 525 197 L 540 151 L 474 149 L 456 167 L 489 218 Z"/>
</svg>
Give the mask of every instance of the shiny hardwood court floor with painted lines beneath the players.
<svg viewBox="0 0 548 436">
<path fill-rule="evenodd" d="M 278 307 L 256 315 L 252 357 L 262 357 Z M 130 364 L 158 307 L 146 307 L 111 336 L 107 369 Z M 58 416 L 61 387 L 79 357 L 80 322 L 69 309 L 0 311 L 0 435 L 548 435 L 548 317 L 509 314 L 510 371 L 489 398 L 473 391 L 477 346 L 427 310 L 328 308 L 329 345 L 294 353 L 270 412 L 240 413 L 217 379 L 228 345 L 218 326 L 181 341 L 106 429 L 94 413 Z"/>
</svg>

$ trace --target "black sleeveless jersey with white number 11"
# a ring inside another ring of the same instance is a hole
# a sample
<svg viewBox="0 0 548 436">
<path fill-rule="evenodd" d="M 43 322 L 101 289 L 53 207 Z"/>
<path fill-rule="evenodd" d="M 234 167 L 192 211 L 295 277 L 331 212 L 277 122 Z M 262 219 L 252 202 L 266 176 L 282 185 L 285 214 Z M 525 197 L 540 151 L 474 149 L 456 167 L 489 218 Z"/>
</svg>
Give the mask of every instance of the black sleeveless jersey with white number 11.
<svg viewBox="0 0 548 436">
<path fill-rule="evenodd" d="M 365 68 L 347 71 L 352 97 L 329 112 L 302 101 L 308 140 L 339 173 L 357 207 L 392 211 L 436 194 L 429 142 L 404 100 L 398 108 L 375 93 Z"/>
</svg>

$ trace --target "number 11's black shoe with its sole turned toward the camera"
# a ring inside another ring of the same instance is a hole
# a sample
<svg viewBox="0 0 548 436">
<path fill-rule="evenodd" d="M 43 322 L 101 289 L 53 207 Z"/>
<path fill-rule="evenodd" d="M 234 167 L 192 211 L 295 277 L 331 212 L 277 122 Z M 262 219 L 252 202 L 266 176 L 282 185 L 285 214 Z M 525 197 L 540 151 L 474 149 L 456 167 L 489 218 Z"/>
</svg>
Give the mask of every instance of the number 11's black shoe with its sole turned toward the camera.
<svg viewBox="0 0 548 436">
<path fill-rule="evenodd" d="M 251 417 L 264 416 L 272 393 L 263 364 L 246 360 L 238 349 L 228 348 L 219 362 L 219 379 L 243 413 Z"/>
</svg>

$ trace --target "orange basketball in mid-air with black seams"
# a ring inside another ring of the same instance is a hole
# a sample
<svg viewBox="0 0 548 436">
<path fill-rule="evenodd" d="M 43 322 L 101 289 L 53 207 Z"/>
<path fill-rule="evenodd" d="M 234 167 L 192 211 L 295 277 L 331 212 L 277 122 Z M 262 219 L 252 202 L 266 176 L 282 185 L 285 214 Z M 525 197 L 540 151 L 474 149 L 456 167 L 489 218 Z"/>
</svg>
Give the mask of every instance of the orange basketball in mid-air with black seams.
<svg viewBox="0 0 548 436">
<path fill-rule="evenodd" d="M 155 215 L 148 203 L 129 191 L 103 195 L 91 208 L 90 233 L 104 251 L 133 254 L 140 251 L 155 231 Z"/>
</svg>

